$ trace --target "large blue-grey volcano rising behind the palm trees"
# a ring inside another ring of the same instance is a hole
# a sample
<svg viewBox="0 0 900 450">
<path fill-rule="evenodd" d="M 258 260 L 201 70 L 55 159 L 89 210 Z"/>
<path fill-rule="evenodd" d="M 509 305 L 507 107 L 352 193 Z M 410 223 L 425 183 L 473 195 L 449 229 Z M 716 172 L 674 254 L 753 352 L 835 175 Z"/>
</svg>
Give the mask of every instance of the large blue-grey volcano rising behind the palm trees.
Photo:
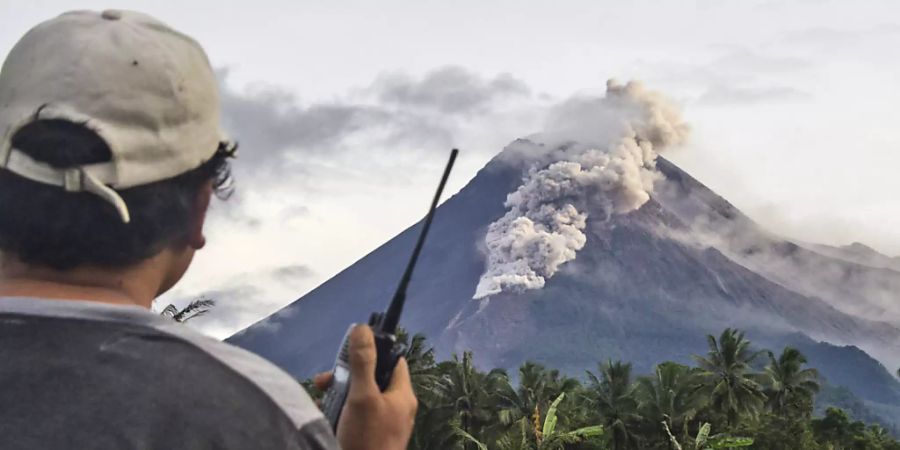
<svg viewBox="0 0 900 450">
<path fill-rule="evenodd" d="M 510 155 L 537 147 L 512 143 L 436 213 L 401 324 L 439 356 L 472 350 L 482 367 L 529 360 L 576 376 L 611 358 L 648 373 L 690 361 L 707 334 L 737 327 L 759 347 L 798 347 L 830 384 L 896 423 L 900 384 L 883 364 L 900 363 L 900 272 L 866 265 L 874 251 L 863 258 L 769 233 L 661 157 L 650 200 L 589 220 L 577 258 L 543 288 L 473 300 L 488 225 L 528 169 Z M 328 370 L 346 325 L 385 308 L 420 226 L 229 341 L 298 378 Z"/>
</svg>

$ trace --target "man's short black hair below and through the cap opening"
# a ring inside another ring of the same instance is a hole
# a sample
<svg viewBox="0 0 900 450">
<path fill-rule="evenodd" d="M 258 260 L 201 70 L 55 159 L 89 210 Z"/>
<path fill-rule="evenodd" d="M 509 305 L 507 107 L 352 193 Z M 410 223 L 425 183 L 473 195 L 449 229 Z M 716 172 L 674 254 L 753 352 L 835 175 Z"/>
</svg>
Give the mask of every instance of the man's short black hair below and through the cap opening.
<svg viewBox="0 0 900 450">
<path fill-rule="evenodd" d="M 12 145 L 58 168 L 112 158 L 97 133 L 65 120 L 31 122 L 13 135 Z M 0 169 L 0 251 L 57 270 L 134 265 L 187 239 L 204 185 L 212 182 L 219 198 L 231 194 L 228 159 L 233 153 L 234 146 L 223 143 L 196 169 L 119 190 L 131 214 L 129 223 L 94 194 L 67 192 Z"/>
</svg>

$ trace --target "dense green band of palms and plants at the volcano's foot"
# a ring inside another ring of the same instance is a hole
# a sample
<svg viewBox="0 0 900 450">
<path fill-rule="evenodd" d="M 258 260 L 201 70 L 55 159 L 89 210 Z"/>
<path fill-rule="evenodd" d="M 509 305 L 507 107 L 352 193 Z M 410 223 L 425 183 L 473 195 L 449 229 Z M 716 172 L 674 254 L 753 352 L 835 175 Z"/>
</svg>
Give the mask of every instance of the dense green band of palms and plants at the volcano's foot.
<svg viewBox="0 0 900 450">
<path fill-rule="evenodd" d="M 733 329 L 707 340 L 693 366 L 635 376 L 605 361 L 581 381 L 531 362 L 480 371 L 469 352 L 438 362 L 423 336 L 401 334 L 420 403 L 410 449 L 900 450 L 842 409 L 814 417 L 822 382 L 798 350 L 755 351 Z"/>
</svg>

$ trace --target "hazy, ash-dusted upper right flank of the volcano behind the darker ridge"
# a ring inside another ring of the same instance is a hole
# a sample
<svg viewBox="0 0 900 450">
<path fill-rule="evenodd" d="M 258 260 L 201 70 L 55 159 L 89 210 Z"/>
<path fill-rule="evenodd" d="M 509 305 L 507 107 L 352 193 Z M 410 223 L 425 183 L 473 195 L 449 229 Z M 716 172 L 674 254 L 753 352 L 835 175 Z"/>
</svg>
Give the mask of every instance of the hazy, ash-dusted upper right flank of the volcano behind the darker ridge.
<svg viewBox="0 0 900 450">
<path fill-rule="evenodd" d="M 900 325 L 900 272 L 884 266 L 886 256 L 877 258 L 877 252 L 859 245 L 807 248 L 789 242 L 760 228 L 672 163 L 660 159 L 658 165 L 666 181 L 657 186 L 656 198 L 690 225 L 682 240 L 718 248 L 770 280 L 848 314 Z M 900 364 L 900 351 L 890 350 L 883 359 Z"/>
</svg>

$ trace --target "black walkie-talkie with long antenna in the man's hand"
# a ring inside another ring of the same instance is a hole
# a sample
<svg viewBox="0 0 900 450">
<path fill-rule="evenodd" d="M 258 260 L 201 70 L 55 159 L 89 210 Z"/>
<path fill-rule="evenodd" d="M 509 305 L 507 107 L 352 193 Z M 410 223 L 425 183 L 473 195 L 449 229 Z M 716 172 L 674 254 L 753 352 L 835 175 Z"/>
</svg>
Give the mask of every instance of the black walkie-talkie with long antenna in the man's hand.
<svg viewBox="0 0 900 450">
<path fill-rule="evenodd" d="M 441 177 L 441 183 L 438 190 L 434 194 L 434 200 L 431 202 L 431 208 L 425 221 L 422 224 L 422 231 L 419 232 L 419 240 L 413 248 L 412 257 L 400 278 L 400 284 L 397 286 L 397 292 L 385 312 L 374 312 L 369 317 L 369 326 L 375 334 L 375 348 L 378 351 L 378 362 L 375 364 L 375 382 L 378 388 L 383 392 L 387 389 L 391 382 L 391 374 L 394 367 L 400 359 L 400 353 L 394 348 L 397 342 L 397 323 L 400 321 L 400 313 L 403 312 L 403 304 L 406 302 L 406 287 L 412 278 L 413 269 L 416 267 L 416 260 L 419 259 L 419 253 L 422 251 L 422 245 L 425 243 L 425 236 L 428 235 L 428 228 L 431 227 L 431 220 L 434 218 L 434 211 L 437 209 L 438 201 L 441 193 L 444 191 L 444 185 L 447 184 L 447 178 L 450 176 L 450 170 L 453 169 L 453 162 L 456 161 L 456 155 L 459 153 L 457 149 L 450 152 L 450 161 L 444 169 L 444 175 Z M 341 348 L 338 351 L 337 358 L 334 361 L 334 378 L 331 386 L 325 391 L 325 398 L 322 402 L 322 411 L 325 418 L 331 423 L 331 428 L 337 432 L 337 424 L 341 418 L 341 411 L 344 409 L 344 402 L 347 400 L 347 393 L 350 392 L 350 332 L 355 324 L 350 325 L 341 341 Z"/>
</svg>

